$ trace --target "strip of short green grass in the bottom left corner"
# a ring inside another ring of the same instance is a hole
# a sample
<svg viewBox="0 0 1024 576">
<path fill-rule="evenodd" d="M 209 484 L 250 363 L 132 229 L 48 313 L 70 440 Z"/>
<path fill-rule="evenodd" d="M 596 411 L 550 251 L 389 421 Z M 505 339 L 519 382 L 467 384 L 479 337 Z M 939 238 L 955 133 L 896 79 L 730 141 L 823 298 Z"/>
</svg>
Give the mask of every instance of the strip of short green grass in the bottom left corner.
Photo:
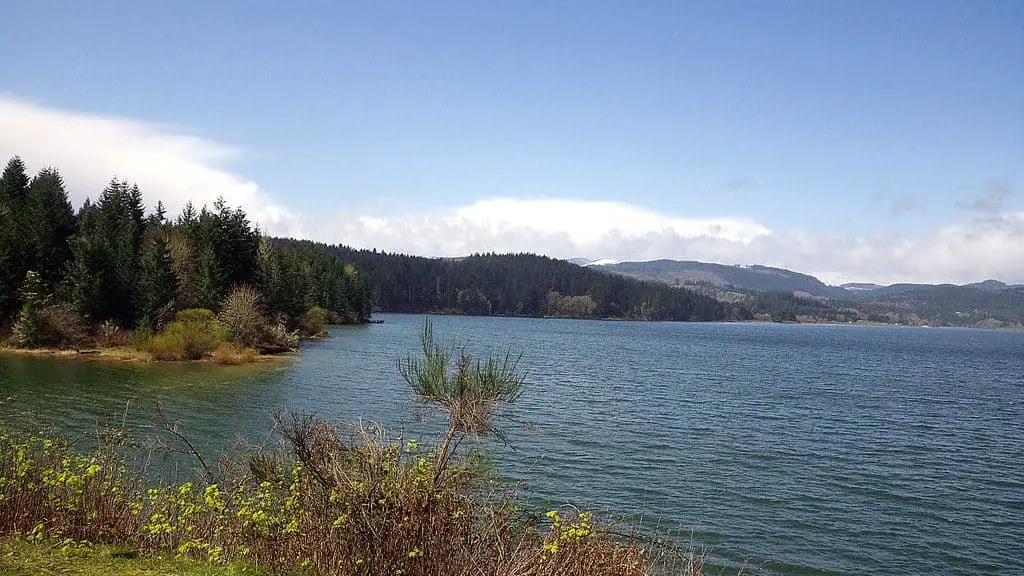
<svg viewBox="0 0 1024 576">
<path fill-rule="evenodd" d="M 0 540 L 0 576 L 264 576 L 252 566 L 208 564 L 166 558 L 135 558 L 124 547 L 34 544 Z"/>
</svg>

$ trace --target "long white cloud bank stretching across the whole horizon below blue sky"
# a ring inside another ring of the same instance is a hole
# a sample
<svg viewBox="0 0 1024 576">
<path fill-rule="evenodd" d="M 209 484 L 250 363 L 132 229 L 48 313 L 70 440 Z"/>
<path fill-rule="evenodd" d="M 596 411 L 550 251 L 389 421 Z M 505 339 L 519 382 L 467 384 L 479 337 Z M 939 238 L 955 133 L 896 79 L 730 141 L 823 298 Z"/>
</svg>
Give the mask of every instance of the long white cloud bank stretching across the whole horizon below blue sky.
<svg viewBox="0 0 1024 576">
<path fill-rule="evenodd" d="M 119 175 L 138 182 L 151 201 L 163 200 L 172 214 L 187 201 L 208 204 L 223 196 L 269 234 L 387 251 L 763 263 L 829 283 L 1024 282 L 1024 212 L 1005 210 L 1011 193 L 1005 182 L 990 182 L 962 205 L 958 221 L 913 236 L 809 235 L 741 215 L 690 218 L 628 203 L 562 199 L 490 198 L 422 213 L 300 214 L 231 171 L 241 154 L 231 147 L 159 124 L 0 98 L 0 157 L 15 154 L 33 170 L 59 168 L 76 203 Z"/>
</svg>

